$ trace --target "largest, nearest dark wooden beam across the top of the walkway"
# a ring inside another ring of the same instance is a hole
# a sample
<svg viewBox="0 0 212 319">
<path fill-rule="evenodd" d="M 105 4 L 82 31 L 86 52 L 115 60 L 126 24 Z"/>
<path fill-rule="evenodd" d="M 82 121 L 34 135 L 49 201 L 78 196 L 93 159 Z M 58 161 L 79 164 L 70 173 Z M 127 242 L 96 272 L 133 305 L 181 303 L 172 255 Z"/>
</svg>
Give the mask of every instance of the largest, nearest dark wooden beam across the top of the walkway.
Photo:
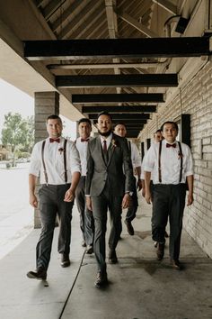
<svg viewBox="0 0 212 319">
<path fill-rule="evenodd" d="M 23 41 L 24 57 L 38 59 L 177 58 L 210 54 L 204 37 Z"/>
</svg>

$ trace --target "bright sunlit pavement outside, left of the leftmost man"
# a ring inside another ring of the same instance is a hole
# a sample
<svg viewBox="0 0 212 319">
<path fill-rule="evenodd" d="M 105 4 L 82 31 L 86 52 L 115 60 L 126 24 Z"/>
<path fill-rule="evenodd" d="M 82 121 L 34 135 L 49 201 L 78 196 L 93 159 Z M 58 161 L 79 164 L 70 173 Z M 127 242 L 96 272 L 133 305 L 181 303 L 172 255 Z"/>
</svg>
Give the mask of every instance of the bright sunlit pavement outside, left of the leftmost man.
<svg viewBox="0 0 212 319">
<path fill-rule="evenodd" d="M 22 242 L 33 229 L 33 209 L 29 205 L 29 163 L 14 169 L 0 168 L 0 259 Z"/>
</svg>

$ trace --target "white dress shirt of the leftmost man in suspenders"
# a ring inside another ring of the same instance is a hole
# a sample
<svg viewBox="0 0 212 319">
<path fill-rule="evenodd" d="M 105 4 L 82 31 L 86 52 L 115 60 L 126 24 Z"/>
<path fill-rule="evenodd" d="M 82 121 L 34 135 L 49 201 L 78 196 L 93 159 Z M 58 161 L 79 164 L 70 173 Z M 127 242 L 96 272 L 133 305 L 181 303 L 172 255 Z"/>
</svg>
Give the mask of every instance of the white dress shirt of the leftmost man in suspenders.
<svg viewBox="0 0 212 319">
<path fill-rule="evenodd" d="M 44 147 L 44 162 L 48 175 L 48 183 L 51 185 L 65 184 L 65 168 L 64 168 L 64 141 L 60 137 L 60 142 L 49 142 L 46 139 Z M 46 184 L 44 176 L 44 169 L 42 164 L 42 142 L 39 141 L 35 144 L 31 153 L 31 166 L 29 173 L 39 177 L 40 184 Z M 80 157 L 73 141 L 66 142 L 66 170 L 67 170 L 67 183 L 71 183 L 71 176 L 74 172 L 81 172 Z"/>
</svg>

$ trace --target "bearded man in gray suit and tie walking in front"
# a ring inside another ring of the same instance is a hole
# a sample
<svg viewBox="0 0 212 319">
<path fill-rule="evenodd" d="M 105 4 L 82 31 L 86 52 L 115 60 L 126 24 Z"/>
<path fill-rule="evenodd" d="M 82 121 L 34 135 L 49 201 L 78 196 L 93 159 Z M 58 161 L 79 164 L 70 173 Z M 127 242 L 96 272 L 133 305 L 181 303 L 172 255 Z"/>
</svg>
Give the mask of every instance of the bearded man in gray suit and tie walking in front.
<svg viewBox="0 0 212 319">
<path fill-rule="evenodd" d="M 133 169 L 128 141 L 112 133 L 110 114 L 98 115 L 100 136 L 89 141 L 87 150 L 86 204 L 93 211 L 93 249 L 97 260 L 96 287 L 107 284 L 105 232 L 110 211 L 109 262 L 117 263 L 116 246 L 121 232 L 121 211 L 128 208 L 133 192 Z M 124 169 L 124 170 L 123 170 Z"/>
</svg>

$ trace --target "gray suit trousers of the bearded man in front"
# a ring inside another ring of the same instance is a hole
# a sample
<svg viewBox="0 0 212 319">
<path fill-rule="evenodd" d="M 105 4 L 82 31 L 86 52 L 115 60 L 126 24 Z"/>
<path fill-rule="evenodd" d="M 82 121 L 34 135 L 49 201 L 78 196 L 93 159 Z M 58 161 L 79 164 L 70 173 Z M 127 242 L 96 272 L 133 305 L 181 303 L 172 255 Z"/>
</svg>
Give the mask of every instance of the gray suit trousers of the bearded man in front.
<svg viewBox="0 0 212 319">
<path fill-rule="evenodd" d="M 122 196 L 110 194 L 109 187 L 105 187 L 100 196 L 92 196 L 95 234 L 93 249 L 97 261 L 97 270 L 105 273 L 105 232 L 107 229 L 107 212 L 110 211 L 109 248 L 115 251 L 121 232 L 121 203 Z"/>
</svg>

